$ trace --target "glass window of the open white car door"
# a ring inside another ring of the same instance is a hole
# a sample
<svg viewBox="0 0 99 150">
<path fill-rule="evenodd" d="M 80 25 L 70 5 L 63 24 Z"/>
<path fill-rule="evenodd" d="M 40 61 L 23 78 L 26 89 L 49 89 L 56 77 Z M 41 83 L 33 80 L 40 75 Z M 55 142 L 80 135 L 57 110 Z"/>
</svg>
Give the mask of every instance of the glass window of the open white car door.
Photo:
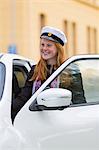
<svg viewBox="0 0 99 150">
<path fill-rule="evenodd" d="M 98 59 L 75 61 L 68 65 L 49 84 L 48 88 L 58 87 L 70 90 L 72 92 L 71 105 L 99 102 L 98 65 Z"/>
</svg>

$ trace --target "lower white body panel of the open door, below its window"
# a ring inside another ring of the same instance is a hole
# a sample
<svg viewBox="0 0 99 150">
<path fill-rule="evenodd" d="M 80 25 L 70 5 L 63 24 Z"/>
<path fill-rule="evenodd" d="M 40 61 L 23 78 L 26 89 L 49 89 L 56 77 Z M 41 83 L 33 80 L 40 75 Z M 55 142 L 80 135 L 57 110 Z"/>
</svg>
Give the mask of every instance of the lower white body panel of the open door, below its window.
<svg viewBox="0 0 99 150">
<path fill-rule="evenodd" d="M 24 115 L 24 111 L 22 110 L 20 116 L 16 118 L 15 127 L 25 138 L 25 148 L 29 150 L 33 148 L 98 150 L 99 106 L 94 108 L 93 106 L 82 106 L 63 111 L 27 111 L 27 115 Z M 96 113 L 97 115 L 95 115 Z M 23 122 L 24 128 L 21 122 Z"/>
</svg>

